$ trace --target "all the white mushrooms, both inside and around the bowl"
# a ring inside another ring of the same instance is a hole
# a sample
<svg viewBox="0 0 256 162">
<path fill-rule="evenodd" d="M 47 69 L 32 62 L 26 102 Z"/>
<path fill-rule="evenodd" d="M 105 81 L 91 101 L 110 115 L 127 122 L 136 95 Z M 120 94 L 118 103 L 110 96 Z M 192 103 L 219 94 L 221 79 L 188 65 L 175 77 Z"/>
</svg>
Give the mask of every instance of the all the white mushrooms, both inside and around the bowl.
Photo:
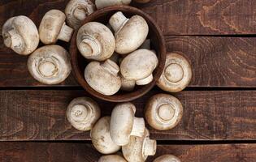
<svg viewBox="0 0 256 162">
<path fill-rule="evenodd" d="M 134 0 L 149 2 L 150 0 Z M 150 40 L 149 27 L 139 15 L 126 18 L 116 12 L 108 24 L 82 21 L 96 8 L 128 5 L 131 0 L 71 0 L 65 13 L 51 10 L 41 19 L 39 30 L 24 15 L 8 19 L 2 27 L 4 44 L 20 55 L 29 55 L 28 71 L 40 83 L 57 84 L 67 79 L 72 66 L 69 53 L 58 40 L 69 42 L 73 30 L 78 30 L 76 44 L 80 53 L 92 62 L 85 68 L 85 80 L 95 91 L 106 96 L 119 89 L 132 91 L 136 85 L 152 81 L 158 65 Z M 96 6 L 96 7 L 95 7 Z M 67 18 L 67 24 L 66 24 Z M 80 27 L 81 26 L 81 27 Z M 37 49 L 39 42 L 44 46 Z M 180 53 L 167 53 L 166 65 L 157 85 L 166 92 L 180 92 L 192 78 L 189 62 Z M 90 130 L 93 146 L 102 156 L 98 162 L 143 162 L 154 156 L 157 145 L 150 139 L 143 117 L 135 117 L 132 103 L 117 104 L 111 117 L 101 117 L 99 105 L 88 97 L 72 100 L 67 107 L 67 120 L 77 130 Z M 156 130 L 170 130 L 183 114 L 176 97 L 168 94 L 152 96 L 145 105 L 145 120 Z M 115 154 L 122 149 L 123 156 Z M 112 154 L 112 155 L 111 155 Z M 171 155 L 160 156 L 154 162 L 180 160 Z"/>
</svg>

